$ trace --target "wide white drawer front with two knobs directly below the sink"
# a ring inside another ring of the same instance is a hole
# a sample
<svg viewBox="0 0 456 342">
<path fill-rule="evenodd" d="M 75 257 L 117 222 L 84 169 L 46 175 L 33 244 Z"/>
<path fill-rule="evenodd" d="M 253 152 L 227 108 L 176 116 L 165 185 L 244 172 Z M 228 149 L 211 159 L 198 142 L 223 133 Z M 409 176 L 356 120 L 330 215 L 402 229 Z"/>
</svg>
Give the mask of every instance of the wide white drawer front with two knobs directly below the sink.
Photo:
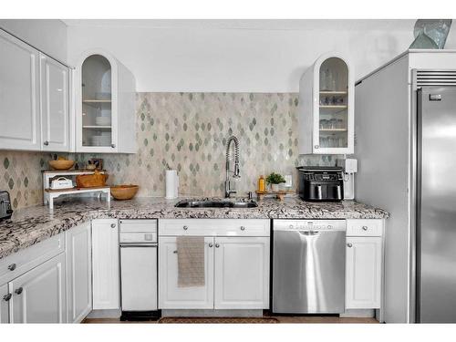
<svg viewBox="0 0 456 342">
<path fill-rule="evenodd" d="M 269 227 L 267 219 L 166 219 L 159 220 L 159 235 L 269 236 Z"/>
</svg>

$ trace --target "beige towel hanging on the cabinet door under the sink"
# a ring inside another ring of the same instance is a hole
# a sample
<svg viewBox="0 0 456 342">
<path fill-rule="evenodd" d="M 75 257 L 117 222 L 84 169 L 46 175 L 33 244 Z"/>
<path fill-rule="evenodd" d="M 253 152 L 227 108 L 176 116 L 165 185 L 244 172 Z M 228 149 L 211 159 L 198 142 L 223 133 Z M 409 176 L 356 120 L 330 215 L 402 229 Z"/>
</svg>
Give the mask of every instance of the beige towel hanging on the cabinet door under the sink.
<svg viewBox="0 0 456 342">
<path fill-rule="evenodd" d="M 178 236 L 178 287 L 204 286 L 204 237 Z"/>
</svg>

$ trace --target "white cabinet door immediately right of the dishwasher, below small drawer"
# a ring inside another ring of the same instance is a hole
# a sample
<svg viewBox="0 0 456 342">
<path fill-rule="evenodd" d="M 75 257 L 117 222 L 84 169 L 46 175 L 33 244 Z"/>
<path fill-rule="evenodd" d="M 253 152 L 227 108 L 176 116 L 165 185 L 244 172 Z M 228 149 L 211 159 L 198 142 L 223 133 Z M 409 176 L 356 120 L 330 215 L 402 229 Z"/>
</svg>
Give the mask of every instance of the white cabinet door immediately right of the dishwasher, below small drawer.
<svg viewBox="0 0 456 342">
<path fill-rule="evenodd" d="M 380 307 L 381 244 L 381 237 L 347 237 L 347 309 Z"/>
</svg>

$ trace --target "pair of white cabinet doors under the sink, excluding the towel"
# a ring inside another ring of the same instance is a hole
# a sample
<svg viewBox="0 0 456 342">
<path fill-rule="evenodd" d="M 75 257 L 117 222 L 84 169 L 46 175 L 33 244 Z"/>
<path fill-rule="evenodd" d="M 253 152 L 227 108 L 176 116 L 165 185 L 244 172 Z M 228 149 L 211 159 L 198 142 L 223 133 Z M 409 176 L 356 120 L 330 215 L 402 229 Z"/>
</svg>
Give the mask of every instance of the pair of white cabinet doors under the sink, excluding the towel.
<svg viewBox="0 0 456 342">
<path fill-rule="evenodd" d="M 171 220 L 167 220 L 167 223 L 169 221 Z M 192 224 L 192 220 L 189 220 L 189 224 Z M 244 228 L 240 220 L 235 224 L 241 224 Z M 162 227 L 160 222 L 159 227 Z M 195 236 L 198 233 L 197 229 L 195 228 L 193 233 Z M 232 227 L 226 229 L 231 232 Z M 241 230 L 241 233 L 244 233 L 244 230 Z M 269 307 L 268 236 L 205 236 L 205 283 L 203 286 L 192 287 L 178 286 L 176 239 L 177 236 L 159 238 L 159 308 L 267 309 Z"/>
</svg>

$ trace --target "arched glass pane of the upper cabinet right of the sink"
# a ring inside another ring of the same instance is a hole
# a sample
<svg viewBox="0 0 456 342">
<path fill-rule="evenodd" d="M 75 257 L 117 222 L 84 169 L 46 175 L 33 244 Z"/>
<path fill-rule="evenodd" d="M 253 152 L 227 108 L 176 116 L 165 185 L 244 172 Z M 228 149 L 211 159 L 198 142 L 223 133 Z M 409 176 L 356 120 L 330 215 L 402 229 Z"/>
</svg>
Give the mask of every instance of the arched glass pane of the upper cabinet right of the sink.
<svg viewBox="0 0 456 342">
<path fill-rule="evenodd" d="M 347 64 L 338 57 L 330 57 L 321 64 L 319 72 L 319 148 L 347 149 Z"/>
</svg>

